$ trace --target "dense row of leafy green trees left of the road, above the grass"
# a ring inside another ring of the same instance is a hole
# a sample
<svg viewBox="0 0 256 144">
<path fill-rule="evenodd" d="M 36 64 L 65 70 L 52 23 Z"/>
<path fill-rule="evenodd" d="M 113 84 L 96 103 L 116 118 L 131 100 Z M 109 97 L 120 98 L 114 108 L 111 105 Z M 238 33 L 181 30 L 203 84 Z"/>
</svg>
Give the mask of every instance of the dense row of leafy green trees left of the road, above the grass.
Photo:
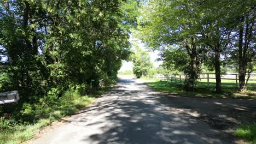
<svg viewBox="0 0 256 144">
<path fill-rule="evenodd" d="M 0 1 L 0 91 L 25 101 L 81 94 L 117 78 L 138 2 Z"/>
</svg>

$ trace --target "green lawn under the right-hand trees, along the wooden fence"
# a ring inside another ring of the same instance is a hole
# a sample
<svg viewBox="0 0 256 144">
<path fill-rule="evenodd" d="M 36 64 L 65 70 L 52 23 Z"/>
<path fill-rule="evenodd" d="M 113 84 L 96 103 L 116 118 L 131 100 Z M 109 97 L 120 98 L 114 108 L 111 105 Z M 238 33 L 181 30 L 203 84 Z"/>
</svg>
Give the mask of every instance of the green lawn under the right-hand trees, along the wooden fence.
<svg viewBox="0 0 256 144">
<path fill-rule="evenodd" d="M 215 92 L 216 83 L 214 79 L 210 79 L 210 85 L 207 87 L 207 79 L 202 79 L 195 83 L 195 91 L 185 91 L 183 81 L 179 80 L 166 82 L 154 79 L 141 79 L 148 86 L 156 89 L 156 91 L 171 93 L 174 95 L 198 96 L 198 97 L 216 97 L 216 98 L 256 98 L 256 81 L 250 81 L 245 93 L 238 92 L 235 80 L 222 80 L 223 93 Z"/>
</svg>

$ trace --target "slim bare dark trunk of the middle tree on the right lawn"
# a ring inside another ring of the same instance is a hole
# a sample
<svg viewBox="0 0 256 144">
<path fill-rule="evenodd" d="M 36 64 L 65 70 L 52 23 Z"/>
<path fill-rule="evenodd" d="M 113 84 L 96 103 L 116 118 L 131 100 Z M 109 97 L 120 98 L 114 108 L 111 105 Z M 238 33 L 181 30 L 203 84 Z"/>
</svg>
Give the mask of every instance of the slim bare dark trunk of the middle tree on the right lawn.
<svg viewBox="0 0 256 144">
<path fill-rule="evenodd" d="M 214 67 L 215 67 L 215 77 L 216 77 L 216 92 L 222 92 L 222 79 L 220 79 L 220 50 L 219 46 L 216 46 L 216 51 L 214 55 Z"/>
</svg>

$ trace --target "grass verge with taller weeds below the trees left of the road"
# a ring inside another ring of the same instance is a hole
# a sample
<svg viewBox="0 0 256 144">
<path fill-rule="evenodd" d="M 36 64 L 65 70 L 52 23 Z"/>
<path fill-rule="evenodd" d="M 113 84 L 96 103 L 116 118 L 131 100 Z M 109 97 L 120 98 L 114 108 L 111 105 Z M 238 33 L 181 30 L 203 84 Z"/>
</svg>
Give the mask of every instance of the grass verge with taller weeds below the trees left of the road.
<svg viewBox="0 0 256 144">
<path fill-rule="evenodd" d="M 23 104 L 24 106 L 22 107 L 25 108 L 20 110 L 20 113 L 22 113 L 20 117 L 30 120 L 34 118 L 36 120 L 32 122 L 19 122 L 17 120 L 18 118 L 13 118 L 15 115 L 16 117 L 19 116 L 17 113 L 10 119 L 0 117 L 0 143 L 22 143 L 32 139 L 34 137 L 34 131 L 88 107 L 89 104 L 95 101 L 95 98 L 100 97 L 100 95 L 108 91 L 112 86 L 104 87 L 89 96 L 67 92 L 53 105 L 48 105 L 44 102 L 33 105 Z"/>
</svg>

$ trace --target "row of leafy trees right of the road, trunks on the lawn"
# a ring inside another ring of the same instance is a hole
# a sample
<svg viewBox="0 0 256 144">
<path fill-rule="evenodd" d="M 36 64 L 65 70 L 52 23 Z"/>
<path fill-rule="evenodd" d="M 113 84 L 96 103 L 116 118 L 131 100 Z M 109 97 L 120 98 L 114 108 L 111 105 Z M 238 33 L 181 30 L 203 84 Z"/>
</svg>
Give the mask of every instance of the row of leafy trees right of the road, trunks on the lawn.
<svg viewBox="0 0 256 144">
<path fill-rule="evenodd" d="M 256 62 L 256 2 L 147 1 L 140 9 L 138 36 L 161 52 L 168 69 L 196 80 L 202 68 L 214 70 L 216 92 L 222 92 L 225 67 L 235 67 L 240 91 Z"/>
</svg>

